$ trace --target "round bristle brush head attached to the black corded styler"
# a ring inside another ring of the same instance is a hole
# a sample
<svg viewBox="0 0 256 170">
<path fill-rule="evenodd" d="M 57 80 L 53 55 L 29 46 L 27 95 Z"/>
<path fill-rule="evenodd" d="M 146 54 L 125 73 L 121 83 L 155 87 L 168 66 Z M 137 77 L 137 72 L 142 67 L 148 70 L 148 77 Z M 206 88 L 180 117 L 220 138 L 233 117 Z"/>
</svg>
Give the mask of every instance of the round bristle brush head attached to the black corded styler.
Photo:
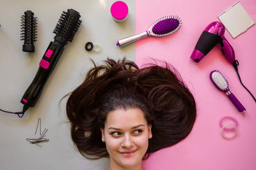
<svg viewBox="0 0 256 170">
<path fill-rule="evenodd" d="M 67 44 L 67 41 L 71 42 L 82 22 L 79 20 L 80 17 L 79 12 L 76 10 L 68 9 L 67 12 L 63 11 L 53 31 L 56 34 L 54 39 L 63 44 Z"/>
</svg>

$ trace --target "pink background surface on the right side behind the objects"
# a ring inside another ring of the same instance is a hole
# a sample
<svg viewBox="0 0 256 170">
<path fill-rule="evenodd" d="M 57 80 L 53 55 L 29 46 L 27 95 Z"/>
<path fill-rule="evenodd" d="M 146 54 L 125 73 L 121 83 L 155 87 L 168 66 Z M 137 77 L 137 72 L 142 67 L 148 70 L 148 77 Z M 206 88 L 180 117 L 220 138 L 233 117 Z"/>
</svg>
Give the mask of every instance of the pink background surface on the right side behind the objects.
<svg viewBox="0 0 256 170">
<path fill-rule="evenodd" d="M 256 21 L 256 1 L 240 2 Z M 193 93 L 197 106 L 196 122 L 188 138 L 152 154 L 143 162 L 145 169 L 256 169 L 255 101 L 242 87 L 219 46 L 199 63 L 189 58 L 205 27 L 218 20 L 217 16 L 235 3 L 234 0 L 136 1 L 136 33 L 146 31 L 158 18 L 166 15 L 177 15 L 182 19 L 179 31 L 170 36 L 136 41 L 136 63 L 142 66 L 154 58 L 172 64 Z M 244 85 L 256 96 L 256 26 L 236 39 L 227 31 L 225 37 L 236 53 Z M 245 117 L 212 84 L 209 73 L 214 69 L 225 72 L 232 81 L 230 91 L 246 108 Z M 219 121 L 224 116 L 235 117 L 239 122 L 235 139 L 227 140 L 220 135 Z"/>
</svg>

